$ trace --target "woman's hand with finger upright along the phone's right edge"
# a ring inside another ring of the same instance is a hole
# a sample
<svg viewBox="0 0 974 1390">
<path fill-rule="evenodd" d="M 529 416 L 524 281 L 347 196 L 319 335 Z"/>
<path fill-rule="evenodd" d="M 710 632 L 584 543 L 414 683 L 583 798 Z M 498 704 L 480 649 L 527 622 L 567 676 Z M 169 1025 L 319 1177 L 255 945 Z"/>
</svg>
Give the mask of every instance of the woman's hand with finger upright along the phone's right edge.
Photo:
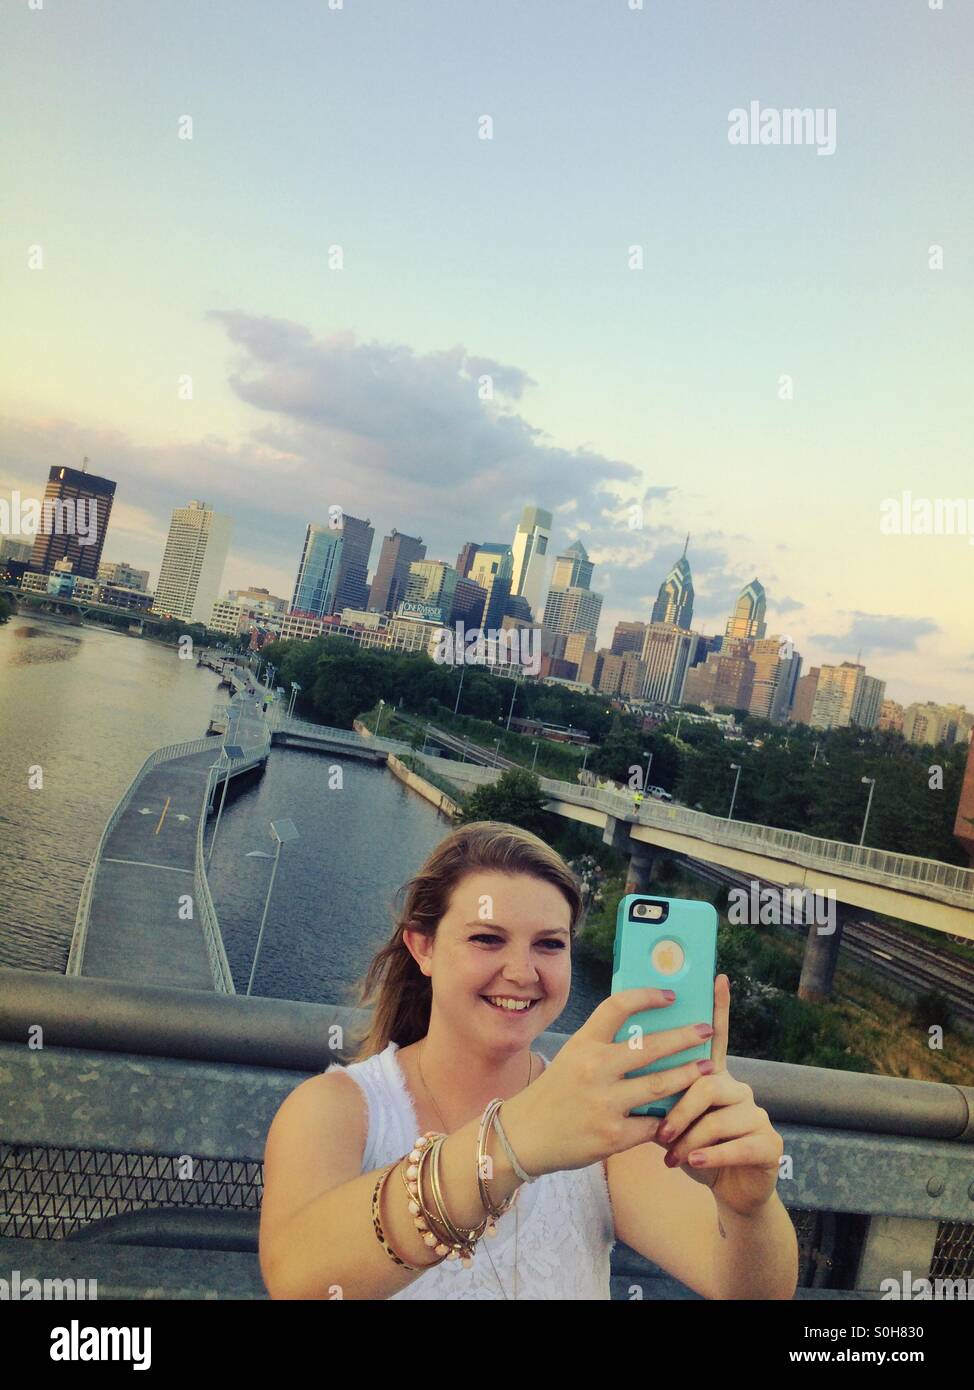
<svg viewBox="0 0 974 1390">
<path fill-rule="evenodd" d="M 784 1140 L 754 1093 L 727 1070 L 731 981 L 714 980 L 714 1036 L 709 1076 L 700 1076 L 660 1123 L 653 1143 L 668 1150 L 667 1168 L 682 1168 L 717 1201 L 749 1216 L 773 1195 Z M 700 1159 L 698 1163 L 696 1159 Z"/>
</svg>

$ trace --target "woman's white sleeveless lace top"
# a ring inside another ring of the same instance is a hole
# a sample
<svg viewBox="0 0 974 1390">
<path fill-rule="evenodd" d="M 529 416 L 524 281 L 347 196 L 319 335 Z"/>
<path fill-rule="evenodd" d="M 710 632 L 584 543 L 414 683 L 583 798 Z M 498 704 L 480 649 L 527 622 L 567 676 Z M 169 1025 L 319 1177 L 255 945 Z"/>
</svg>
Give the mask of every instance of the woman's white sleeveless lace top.
<svg viewBox="0 0 974 1390">
<path fill-rule="evenodd" d="M 413 1098 L 396 1059 L 397 1051 L 399 1044 L 389 1042 L 385 1052 L 342 1068 L 361 1087 L 368 1106 L 363 1173 L 402 1158 L 420 1134 Z M 543 1061 L 547 1065 L 547 1058 Z M 336 1066 L 342 1063 L 333 1062 L 327 1070 Z M 402 1188 L 397 1179 L 396 1183 Z M 386 1201 L 392 1191 L 388 1186 Z M 616 1227 L 602 1163 L 545 1173 L 534 1183 L 522 1183 L 520 1191 L 514 1208 L 497 1222 L 497 1234 L 478 1241 L 470 1269 L 464 1269 L 459 1259 L 446 1259 L 390 1297 L 513 1298 L 514 1218 L 520 1209 L 518 1301 L 610 1298 L 609 1257 L 616 1243 Z M 400 1195 L 404 1194 L 400 1191 Z M 489 1245 L 496 1273 L 485 1245 Z"/>
</svg>

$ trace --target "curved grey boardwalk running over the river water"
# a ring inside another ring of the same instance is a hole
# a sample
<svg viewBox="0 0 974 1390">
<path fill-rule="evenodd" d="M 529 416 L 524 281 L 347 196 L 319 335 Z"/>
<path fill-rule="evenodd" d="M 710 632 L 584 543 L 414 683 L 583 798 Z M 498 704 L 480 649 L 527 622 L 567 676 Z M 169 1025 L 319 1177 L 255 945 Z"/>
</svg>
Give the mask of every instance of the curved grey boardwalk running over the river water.
<svg viewBox="0 0 974 1390">
<path fill-rule="evenodd" d="M 204 827 L 224 778 L 265 763 L 270 744 L 261 701 L 238 692 L 225 739 L 146 760 L 88 870 L 67 974 L 235 992 L 206 881 Z"/>
</svg>

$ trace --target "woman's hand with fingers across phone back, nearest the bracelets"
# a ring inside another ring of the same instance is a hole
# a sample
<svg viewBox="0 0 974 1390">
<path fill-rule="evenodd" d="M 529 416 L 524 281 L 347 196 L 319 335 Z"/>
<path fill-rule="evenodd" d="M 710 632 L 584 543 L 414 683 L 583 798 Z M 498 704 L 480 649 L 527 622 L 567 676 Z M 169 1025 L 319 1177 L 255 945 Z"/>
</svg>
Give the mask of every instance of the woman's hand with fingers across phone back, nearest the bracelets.
<svg viewBox="0 0 974 1390">
<path fill-rule="evenodd" d="M 646 1076 L 627 1079 L 625 1073 L 699 1047 L 704 1038 L 696 1024 L 645 1033 L 638 1048 L 628 1040 L 616 1042 L 614 1038 L 634 1013 L 664 1009 L 671 1002 L 663 990 L 654 988 L 620 990 L 609 995 L 572 1033 L 543 1074 L 504 1101 L 500 1116 L 504 1133 L 527 1173 L 535 1177 L 586 1168 L 656 1136 L 661 1119 L 629 1115 L 629 1111 L 634 1105 L 686 1090 L 707 1066 L 702 1069 L 700 1062 L 685 1062 Z"/>
</svg>

